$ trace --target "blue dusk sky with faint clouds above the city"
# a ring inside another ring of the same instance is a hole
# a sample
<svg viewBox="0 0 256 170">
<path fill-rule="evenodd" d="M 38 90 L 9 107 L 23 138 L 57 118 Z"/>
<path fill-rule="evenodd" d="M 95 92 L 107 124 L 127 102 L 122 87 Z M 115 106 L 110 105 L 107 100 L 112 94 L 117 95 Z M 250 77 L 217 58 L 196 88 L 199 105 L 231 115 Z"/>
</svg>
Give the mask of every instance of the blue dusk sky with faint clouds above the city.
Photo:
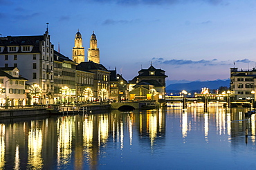
<svg viewBox="0 0 256 170">
<path fill-rule="evenodd" d="M 100 64 L 127 80 L 141 68 L 177 82 L 228 79 L 256 62 L 256 0 L 0 0 L 0 36 L 43 35 L 72 59 L 92 32 Z"/>
</svg>

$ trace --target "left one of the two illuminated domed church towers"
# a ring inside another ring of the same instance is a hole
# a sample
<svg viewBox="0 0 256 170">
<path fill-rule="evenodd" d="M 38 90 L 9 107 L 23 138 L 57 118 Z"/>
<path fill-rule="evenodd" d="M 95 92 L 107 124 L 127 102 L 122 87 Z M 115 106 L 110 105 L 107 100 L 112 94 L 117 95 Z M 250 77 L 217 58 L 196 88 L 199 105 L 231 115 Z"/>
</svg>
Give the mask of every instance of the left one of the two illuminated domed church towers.
<svg viewBox="0 0 256 170">
<path fill-rule="evenodd" d="M 73 48 L 73 61 L 76 63 L 84 62 L 84 47 L 82 47 L 82 35 L 77 31 L 75 34 L 75 47 Z"/>
</svg>

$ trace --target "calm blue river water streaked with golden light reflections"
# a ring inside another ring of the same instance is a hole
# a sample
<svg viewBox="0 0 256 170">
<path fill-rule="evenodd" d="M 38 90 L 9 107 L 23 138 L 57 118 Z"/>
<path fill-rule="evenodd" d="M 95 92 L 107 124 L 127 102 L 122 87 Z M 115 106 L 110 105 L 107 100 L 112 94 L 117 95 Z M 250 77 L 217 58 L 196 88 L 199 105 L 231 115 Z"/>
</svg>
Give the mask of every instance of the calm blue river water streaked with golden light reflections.
<svg viewBox="0 0 256 170">
<path fill-rule="evenodd" d="M 0 120 L 0 169 L 256 169 L 255 115 L 245 111 L 172 107 Z"/>
</svg>

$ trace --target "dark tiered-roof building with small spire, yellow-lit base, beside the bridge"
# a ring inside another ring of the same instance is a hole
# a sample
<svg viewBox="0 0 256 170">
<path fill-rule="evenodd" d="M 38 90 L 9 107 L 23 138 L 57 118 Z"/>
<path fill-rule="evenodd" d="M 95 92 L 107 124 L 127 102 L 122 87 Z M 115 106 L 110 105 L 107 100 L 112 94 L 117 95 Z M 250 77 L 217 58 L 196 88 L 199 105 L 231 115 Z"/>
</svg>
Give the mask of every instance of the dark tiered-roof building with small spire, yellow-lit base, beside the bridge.
<svg viewBox="0 0 256 170">
<path fill-rule="evenodd" d="M 151 65 L 138 71 L 138 75 L 129 81 L 129 100 L 165 99 L 165 70 Z"/>
</svg>

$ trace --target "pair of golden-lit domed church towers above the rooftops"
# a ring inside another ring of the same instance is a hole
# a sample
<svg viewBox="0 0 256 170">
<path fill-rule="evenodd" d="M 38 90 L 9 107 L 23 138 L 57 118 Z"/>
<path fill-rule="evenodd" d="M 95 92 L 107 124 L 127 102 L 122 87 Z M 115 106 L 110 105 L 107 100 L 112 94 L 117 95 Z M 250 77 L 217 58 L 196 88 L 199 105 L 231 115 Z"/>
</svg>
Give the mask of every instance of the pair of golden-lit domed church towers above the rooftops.
<svg viewBox="0 0 256 170">
<path fill-rule="evenodd" d="M 100 64 L 100 50 L 97 48 L 97 39 L 96 35 L 93 34 L 91 35 L 91 40 L 90 40 L 90 48 L 87 51 L 87 61 L 86 62 L 95 62 Z M 76 63 L 81 63 L 85 62 L 84 60 L 84 47 L 82 46 L 82 35 L 77 31 L 75 34 L 75 47 L 73 48 L 73 61 Z"/>
</svg>

